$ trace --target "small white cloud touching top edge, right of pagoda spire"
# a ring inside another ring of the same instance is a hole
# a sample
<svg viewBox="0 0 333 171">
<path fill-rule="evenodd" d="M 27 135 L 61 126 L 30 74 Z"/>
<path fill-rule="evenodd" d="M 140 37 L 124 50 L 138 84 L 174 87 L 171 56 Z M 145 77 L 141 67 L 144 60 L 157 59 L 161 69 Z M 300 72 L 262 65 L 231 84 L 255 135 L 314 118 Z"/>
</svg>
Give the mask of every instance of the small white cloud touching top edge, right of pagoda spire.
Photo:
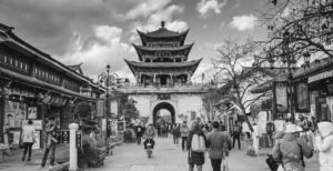
<svg viewBox="0 0 333 171">
<path fill-rule="evenodd" d="M 219 0 L 201 0 L 196 4 L 196 11 L 205 17 L 209 12 L 221 13 L 221 9 L 226 4 L 228 0 L 219 2 Z"/>
</svg>

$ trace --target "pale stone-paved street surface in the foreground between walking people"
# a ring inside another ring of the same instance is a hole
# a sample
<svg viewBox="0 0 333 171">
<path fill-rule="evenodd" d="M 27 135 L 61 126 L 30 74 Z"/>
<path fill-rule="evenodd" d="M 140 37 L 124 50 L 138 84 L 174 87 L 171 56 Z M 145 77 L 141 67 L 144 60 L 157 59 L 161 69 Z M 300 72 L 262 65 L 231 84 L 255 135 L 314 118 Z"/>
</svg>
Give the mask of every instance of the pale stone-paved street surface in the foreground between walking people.
<svg viewBox="0 0 333 171">
<path fill-rule="evenodd" d="M 229 159 L 230 171 L 269 171 L 264 153 L 256 158 L 248 157 L 245 150 L 232 150 Z M 105 165 L 91 171 L 186 171 L 188 153 L 181 150 L 181 144 L 174 145 L 172 138 L 159 138 L 153 151 L 153 158 L 148 159 L 142 145 L 124 143 L 114 149 L 114 154 L 105 160 Z M 211 171 L 208 153 L 203 171 Z M 317 155 L 306 161 L 306 171 L 316 171 Z"/>
</svg>

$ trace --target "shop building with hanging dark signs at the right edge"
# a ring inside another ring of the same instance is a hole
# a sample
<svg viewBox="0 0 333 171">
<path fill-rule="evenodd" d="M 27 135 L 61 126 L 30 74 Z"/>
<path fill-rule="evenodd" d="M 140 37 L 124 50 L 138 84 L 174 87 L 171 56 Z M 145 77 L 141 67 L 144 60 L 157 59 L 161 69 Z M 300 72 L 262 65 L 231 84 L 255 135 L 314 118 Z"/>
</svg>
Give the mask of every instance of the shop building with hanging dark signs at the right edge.
<svg viewBox="0 0 333 171">
<path fill-rule="evenodd" d="M 333 121 L 333 59 L 314 60 L 293 74 L 295 112 Z"/>
</svg>

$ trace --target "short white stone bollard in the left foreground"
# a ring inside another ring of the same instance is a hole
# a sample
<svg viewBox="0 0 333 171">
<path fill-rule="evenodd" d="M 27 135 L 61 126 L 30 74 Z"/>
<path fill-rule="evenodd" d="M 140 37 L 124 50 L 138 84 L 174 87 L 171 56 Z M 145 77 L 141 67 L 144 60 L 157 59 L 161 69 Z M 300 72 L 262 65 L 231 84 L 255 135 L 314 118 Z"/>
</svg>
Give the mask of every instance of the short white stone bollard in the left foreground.
<svg viewBox="0 0 333 171">
<path fill-rule="evenodd" d="M 79 124 L 71 123 L 69 124 L 70 129 L 70 163 L 69 170 L 77 171 L 78 170 L 78 148 L 77 148 L 77 131 L 79 129 Z"/>
</svg>

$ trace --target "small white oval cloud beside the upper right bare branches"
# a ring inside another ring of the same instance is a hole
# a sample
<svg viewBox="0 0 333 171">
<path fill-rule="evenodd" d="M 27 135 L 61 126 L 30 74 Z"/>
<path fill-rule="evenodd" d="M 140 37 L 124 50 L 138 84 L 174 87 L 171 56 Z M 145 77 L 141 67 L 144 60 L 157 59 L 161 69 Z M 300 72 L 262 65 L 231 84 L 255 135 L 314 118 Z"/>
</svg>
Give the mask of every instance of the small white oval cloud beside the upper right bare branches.
<svg viewBox="0 0 333 171">
<path fill-rule="evenodd" d="M 250 16 L 236 16 L 231 21 L 231 27 L 239 31 L 251 30 L 255 27 L 258 18 L 253 14 Z"/>
</svg>

